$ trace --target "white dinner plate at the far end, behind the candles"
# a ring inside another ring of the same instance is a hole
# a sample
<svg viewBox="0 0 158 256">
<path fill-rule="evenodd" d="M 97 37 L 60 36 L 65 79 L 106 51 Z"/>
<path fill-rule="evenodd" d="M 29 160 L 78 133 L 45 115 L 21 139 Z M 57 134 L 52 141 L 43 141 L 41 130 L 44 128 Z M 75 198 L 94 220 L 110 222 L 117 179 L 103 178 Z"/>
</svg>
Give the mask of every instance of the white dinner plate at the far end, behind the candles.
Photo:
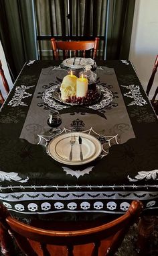
<svg viewBox="0 0 158 256">
<path fill-rule="evenodd" d="M 66 58 L 66 60 L 64 60 L 62 62 L 62 64 L 66 67 L 69 67 L 71 69 L 83 69 L 85 65 L 92 65 L 93 64 L 93 60 L 92 58 L 80 58 L 80 57 L 76 57 L 74 65 L 74 58 Z"/>
</svg>

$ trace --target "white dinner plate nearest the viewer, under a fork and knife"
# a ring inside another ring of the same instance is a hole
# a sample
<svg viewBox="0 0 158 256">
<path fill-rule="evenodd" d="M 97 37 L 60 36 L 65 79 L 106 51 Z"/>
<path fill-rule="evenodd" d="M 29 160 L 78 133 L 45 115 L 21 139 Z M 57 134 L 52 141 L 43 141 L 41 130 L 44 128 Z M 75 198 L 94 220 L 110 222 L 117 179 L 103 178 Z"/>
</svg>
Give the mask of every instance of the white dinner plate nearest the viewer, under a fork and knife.
<svg viewBox="0 0 158 256">
<path fill-rule="evenodd" d="M 72 161 L 70 161 L 70 138 L 75 136 L 76 141 L 72 146 Z M 80 144 L 78 137 L 82 138 L 83 160 L 80 160 Z M 100 141 L 94 136 L 82 132 L 62 134 L 48 144 L 48 154 L 60 163 L 66 165 L 83 165 L 96 159 L 102 151 Z"/>
</svg>

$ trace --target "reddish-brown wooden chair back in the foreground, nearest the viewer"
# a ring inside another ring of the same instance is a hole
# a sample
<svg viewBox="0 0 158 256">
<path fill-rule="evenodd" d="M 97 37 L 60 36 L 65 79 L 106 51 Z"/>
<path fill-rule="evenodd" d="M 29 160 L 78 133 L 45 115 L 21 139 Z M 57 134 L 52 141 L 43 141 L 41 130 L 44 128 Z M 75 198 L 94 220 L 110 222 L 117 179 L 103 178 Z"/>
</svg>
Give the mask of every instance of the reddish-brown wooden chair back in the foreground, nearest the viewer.
<svg viewBox="0 0 158 256">
<path fill-rule="evenodd" d="M 129 227 L 139 217 L 142 210 L 143 204 L 135 200 L 123 216 L 106 224 L 98 226 L 93 221 L 93 226 L 86 228 L 86 222 L 84 222 L 80 229 L 76 229 L 74 224 L 66 229 L 62 223 L 62 230 L 60 230 L 60 228 L 56 229 L 53 222 L 50 221 L 48 228 L 50 229 L 50 226 L 54 226 L 54 228 L 48 230 L 29 226 L 15 220 L 10 216 L 7 209 L 1 205 L 1 247 L 3 252 L 7 252 L 5 253 L 6 256 L 11 256 L 7 249 L 7 237 L 11 233 L 21 251 L 28 256 L 114 255 Z"/>
</svg>

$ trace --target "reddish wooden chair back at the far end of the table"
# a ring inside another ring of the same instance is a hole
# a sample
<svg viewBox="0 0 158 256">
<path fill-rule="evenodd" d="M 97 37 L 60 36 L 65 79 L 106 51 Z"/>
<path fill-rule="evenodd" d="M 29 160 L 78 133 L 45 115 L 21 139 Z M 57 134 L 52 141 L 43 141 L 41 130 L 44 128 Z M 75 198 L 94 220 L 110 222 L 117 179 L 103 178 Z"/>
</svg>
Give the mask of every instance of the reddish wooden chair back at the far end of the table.
<svg viewBox="0 0 158 256">
<path fill-rule="evenodd" d="M 56 41 L 55 38 L 51 39 L 52 49 L 54 51 L 54 57 L 59 59 L 59 50 L 63 51 L 63 58 L 70 56 L 70 50 L 74 51 L 74 56 L 77 56 L 78 51 L 82 51 L 82 56 L 85 58 L 86 50 L 93 50 L 92 58 L 96 57 L 96 51 L 98 50 L 99 38 L 95 38 L 93 41 Z"/>
</svg>

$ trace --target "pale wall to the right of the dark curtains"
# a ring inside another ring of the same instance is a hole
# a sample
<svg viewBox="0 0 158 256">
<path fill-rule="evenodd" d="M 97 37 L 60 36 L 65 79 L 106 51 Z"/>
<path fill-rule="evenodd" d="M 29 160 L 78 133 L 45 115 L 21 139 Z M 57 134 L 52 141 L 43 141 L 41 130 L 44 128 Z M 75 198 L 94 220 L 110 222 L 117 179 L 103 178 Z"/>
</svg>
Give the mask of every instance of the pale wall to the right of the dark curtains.
<svg viewBox="0 0 158 256">
<path fill-rule="evenodd" d="M 144 87 L 151 76 L 155 57 L 158 54 L 158 0 L 136 0 L 129 60 L 133 62 Z M 158 72 L 149 97 L 158 86 Z"/>
</svg>

